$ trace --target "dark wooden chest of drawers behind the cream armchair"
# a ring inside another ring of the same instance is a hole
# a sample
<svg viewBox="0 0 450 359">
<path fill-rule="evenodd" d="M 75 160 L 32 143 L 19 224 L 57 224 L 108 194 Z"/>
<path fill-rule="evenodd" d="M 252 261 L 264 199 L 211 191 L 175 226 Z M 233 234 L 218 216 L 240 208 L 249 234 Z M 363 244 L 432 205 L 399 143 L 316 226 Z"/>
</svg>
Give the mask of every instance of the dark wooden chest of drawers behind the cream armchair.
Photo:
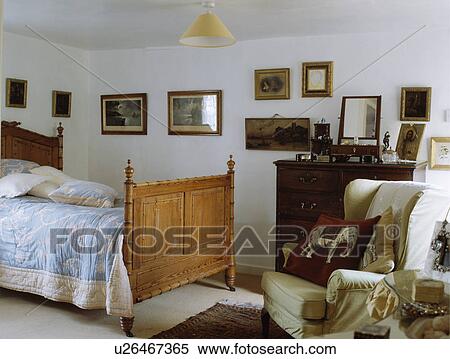
<svg viewBox="0 0 450 359">
<path fill-rule="evenodd" d="M 277 241 L 276 270 L 281 270 L 284 243 L 305 239 L 320 214 L 344 217 L 344 191 L 351 181 L 364 178 L 424 181 L 426 162 L 420 164 L 318 163 L 276 161 Z M 294 227 L 295 226 L 295 227 Z M 296 236 L 296 237 L 293 237 Z"/>
</svg>

